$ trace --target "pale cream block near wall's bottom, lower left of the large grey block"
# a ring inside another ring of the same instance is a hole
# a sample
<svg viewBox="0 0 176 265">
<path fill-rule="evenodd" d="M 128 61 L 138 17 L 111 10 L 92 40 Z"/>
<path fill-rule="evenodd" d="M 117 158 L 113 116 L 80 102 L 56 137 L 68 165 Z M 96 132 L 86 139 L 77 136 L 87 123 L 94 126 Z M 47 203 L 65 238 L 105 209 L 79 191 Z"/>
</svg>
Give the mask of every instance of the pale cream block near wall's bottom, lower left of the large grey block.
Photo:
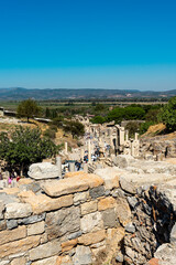
<svg viewBox="0 0 176 265">
<path fill-rule="evenodd" d="M 45 257 L 58 255 L 61 252 L 61 243 L 58 241 L 52 241 L 29 251 L 29 254 L 31 261 L 37 261 Z"/>
</svg>

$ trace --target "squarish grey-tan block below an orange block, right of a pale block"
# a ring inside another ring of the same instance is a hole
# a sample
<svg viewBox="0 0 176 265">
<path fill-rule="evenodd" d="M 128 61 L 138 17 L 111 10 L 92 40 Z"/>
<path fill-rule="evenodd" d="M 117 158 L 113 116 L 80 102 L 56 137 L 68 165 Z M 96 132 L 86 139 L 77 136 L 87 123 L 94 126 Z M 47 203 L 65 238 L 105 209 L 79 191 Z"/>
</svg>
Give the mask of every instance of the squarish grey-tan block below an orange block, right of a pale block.
<svg viewBox="0 0 176 265">
<path fill-rule="evenodd" d="M 102 211 L 101 214 L 102 214 L 105 227 L 117 226 L 118 222 L 117 222 L 117 214 L 114 212 L 114 209 L 108 209 L 106 211 Z"/>
</svg>

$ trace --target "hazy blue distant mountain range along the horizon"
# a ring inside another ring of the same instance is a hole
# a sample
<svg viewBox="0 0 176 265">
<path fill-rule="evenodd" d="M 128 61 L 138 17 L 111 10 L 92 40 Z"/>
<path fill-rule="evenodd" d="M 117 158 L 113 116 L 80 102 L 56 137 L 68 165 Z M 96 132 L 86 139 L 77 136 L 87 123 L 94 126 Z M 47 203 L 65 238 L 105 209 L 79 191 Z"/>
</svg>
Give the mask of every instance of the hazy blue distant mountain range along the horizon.
<svg viewBox="0 0 176 265">
<path fill-rule="evenodd" d="M 73 89 L 73 88 L 45 88 L 26 89 L 22 87 L 0 88 L 0 100 L 23 100 L 34 98 L 36 100 L 47 99 L 118 99 L 118 98 L 163 98 L 176 95 L 176 89 L 167 92 L 141 92 L 136 89 Z"/>
</svg>

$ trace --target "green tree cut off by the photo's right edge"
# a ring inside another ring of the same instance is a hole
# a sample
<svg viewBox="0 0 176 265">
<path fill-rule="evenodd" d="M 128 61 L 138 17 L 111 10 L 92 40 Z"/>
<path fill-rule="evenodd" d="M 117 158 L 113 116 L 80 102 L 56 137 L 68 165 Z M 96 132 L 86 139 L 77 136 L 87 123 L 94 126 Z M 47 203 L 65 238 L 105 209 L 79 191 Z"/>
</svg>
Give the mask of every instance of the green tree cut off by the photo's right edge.
<svg viewBox="0 0 176 265">
<path fill-rule="evenodd" d="M 166 125 L 168 131 L 176 130 L 176 97 L 172 97 L 162 108 L 158 120 Z"/>
</svg>

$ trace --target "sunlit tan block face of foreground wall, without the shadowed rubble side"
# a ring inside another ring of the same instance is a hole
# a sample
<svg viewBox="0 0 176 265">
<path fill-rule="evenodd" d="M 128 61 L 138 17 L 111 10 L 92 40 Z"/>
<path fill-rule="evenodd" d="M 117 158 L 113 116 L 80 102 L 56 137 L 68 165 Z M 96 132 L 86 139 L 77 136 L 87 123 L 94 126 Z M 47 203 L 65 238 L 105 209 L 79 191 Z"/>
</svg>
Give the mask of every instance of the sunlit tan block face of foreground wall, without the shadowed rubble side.
<svg viewBox="0 0 176 265">
<path fill-rule="evenodd" d="M 63 180 L 21 180 L 0 192 L 0 265 L 102 264 L 112 259 L 131 216 L 113 194 L 119 178 L 68 173 Z M 37 187 L 37 188 L 36 188 Z M 121 210 L 119 209 L 121 205 Z M 118 222 L 119 213 L 123 219 Z"/>
</svg>

